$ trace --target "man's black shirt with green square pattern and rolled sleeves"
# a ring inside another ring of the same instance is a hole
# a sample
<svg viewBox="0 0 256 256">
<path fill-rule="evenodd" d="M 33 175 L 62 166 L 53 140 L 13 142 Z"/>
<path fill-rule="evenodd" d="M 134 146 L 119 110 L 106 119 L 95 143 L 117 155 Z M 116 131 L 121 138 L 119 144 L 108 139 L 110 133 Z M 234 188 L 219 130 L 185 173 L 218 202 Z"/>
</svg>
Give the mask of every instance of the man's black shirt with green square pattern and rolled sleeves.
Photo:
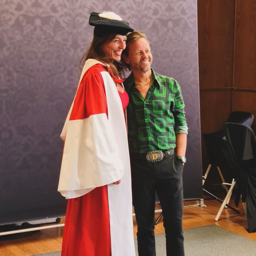
<svg viewBox="0 0 256 256">
<path fill-rule="evenodd" d="M 145 100 L 135 87 L 132 74 L 124 82 L 129 95 L 127 127 L 129 149 L 132 152 L 175 148 L 175 134 L 187 134 L 188 131 L 179 84 L 173 78 L 151 70 L 154 82 Z"/>
</svg>

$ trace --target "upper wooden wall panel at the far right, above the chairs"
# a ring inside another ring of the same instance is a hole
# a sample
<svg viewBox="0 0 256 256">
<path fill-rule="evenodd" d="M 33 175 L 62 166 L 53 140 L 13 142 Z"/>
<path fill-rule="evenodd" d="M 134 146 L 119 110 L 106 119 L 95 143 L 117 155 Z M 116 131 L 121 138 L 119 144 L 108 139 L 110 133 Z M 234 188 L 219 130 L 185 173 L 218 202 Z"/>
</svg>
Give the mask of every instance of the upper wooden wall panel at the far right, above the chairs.
<svg viewBox="0 0 256 256">
<path fill-rule="evenodd" d="M 236 2 L 233 87 L 255 89 L 256 0 Z"/>
</svg>

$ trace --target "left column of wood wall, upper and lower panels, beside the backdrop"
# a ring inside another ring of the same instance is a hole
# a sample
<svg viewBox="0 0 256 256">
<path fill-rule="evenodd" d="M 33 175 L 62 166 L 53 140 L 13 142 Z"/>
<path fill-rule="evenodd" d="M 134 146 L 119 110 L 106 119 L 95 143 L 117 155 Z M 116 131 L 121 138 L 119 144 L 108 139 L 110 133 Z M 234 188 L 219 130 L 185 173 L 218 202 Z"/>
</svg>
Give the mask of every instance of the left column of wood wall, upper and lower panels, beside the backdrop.
<svg viewBox="0 0 256 256">
<path fill-rule="evenodd" d="M 235 4 L 235 0 L 197 1 L 202 134 L 220 130 L 232 110 Z M 205 173 L 209 162 L 203 138 L 201 145 Z"/>
</svg>

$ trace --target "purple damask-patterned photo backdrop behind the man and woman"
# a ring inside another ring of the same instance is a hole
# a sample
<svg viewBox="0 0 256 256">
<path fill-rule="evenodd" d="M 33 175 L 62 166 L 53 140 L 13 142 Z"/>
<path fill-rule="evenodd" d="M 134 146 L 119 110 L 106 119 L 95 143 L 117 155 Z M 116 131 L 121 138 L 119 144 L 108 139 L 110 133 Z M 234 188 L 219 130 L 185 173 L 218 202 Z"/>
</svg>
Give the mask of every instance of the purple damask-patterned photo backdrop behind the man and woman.
<svg viewBox="0 0 256 256">
<path fill-rule="evenodd" d="M 65 215 L 60 132 L 92 39 L 111 10 L 152 42 L 153 68 L 182 87 L 189 136 L 185 199 L 202 198 L 196 0 L 0 2 L 0 224 Z"/>
</svg>

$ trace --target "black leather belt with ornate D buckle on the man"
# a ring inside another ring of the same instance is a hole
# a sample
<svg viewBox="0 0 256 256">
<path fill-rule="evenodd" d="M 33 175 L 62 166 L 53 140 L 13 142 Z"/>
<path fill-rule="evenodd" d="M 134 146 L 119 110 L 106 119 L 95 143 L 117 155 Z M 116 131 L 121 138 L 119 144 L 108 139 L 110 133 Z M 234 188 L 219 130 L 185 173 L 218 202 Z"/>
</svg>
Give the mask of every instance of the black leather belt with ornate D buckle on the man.
<svg viewBox="0 0 256 256">
<path fill-rule="evenodd" d="M 149 151 L 147 153 L 135 153 L 135 152 L 130 152 L 130 157 L 131 158 L 139 158 L 139 159 L 144 159 L 147 160 L 150 163 L 155 163 L 155 162 L 159 162 L 162 161 L 164 158 L 171 156 L 175 153 L 175 150 L 169 149 L 166 151 L 162 151 L 162 150 L 153 150 L 153 151 Z"/>
</svg>

